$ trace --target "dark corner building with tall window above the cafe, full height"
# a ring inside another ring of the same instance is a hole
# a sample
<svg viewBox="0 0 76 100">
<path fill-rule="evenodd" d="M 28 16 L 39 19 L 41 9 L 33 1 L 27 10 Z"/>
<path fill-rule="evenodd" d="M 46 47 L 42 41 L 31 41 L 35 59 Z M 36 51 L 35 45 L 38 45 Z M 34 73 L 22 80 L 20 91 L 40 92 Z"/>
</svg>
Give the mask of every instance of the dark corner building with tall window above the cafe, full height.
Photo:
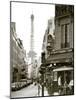
<svg viewBox="0 0 76 100">
<path fill-rule="evenodd" d="M 51 64 L 50 70 L 53 72 L 53 92 L 61 91 L 59 95 L 74 94 L 73 37 L 74 6 L 55 5 L 55 44 L 47 58 L 47 64 Z"/>
</svg>

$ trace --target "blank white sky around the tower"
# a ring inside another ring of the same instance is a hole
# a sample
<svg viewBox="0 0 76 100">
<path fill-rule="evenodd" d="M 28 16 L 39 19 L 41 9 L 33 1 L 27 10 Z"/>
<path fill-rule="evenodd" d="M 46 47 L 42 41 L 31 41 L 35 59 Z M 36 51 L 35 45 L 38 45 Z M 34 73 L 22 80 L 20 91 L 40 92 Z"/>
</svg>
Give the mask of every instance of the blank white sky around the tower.
<svg viewBox="0 0 76 100">
<path fill-rule="evenodd" d="M 55 16 L 55 5 L 12 2 L 11 21 L 16 22 L 16 33 L 26 53 L 30 50 L 31 14 L 34 15 L 34 51 L 39 57 L 48 20 Z"/>
</svg>

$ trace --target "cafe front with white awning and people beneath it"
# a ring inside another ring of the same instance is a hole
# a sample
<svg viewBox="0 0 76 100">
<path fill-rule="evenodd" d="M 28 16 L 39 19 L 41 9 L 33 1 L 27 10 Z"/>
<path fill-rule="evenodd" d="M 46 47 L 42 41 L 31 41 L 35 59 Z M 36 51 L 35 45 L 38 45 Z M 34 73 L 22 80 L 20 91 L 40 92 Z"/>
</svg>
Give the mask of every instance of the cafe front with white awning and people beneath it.
<svg viewBox="0 0 76 100">
<path fill-rule="evenodd" d="M 54 69 L 53 73 L 54 73 L 54 77 L 55 75 L 57 75 L 56 81 L 57 81 L 57 89 L 58 89 L 57 91 L 59 92 L 59 95 L 73 94 L 73 89 L 74 89 L 73 68 L 63 66 L 61 68 Z"/>
</svg>

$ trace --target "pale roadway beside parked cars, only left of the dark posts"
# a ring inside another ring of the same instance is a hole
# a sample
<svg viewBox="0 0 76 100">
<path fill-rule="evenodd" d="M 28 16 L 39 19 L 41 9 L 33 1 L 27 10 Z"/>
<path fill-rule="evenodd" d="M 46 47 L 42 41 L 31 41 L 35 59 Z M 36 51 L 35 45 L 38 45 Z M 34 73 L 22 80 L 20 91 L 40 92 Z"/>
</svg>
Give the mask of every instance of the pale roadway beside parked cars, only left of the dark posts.
<svg viewBox="0 0 76 100">
<path fill-rule="evenodd" d="M 12 98 L 17 98 L 17 97 L 34 97 L 38 95 L 38 86 L 31 84 L 28 87 L 25 87 L 21 90 L 18 91 L 12 91 L 11 93 Z"/>
</svg>

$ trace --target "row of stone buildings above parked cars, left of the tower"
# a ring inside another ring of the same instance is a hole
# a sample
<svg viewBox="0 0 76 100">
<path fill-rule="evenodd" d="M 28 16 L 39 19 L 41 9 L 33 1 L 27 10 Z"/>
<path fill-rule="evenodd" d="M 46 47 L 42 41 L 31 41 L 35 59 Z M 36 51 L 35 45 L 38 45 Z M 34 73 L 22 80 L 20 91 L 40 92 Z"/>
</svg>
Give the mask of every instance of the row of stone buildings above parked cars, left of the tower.
<svg viewBox="0 0 76 100">
<path fill-rule="evenodd" d="M 11 22 L 10 31 L 11 82 L 19 82 L 27 77 L 26 51 L 21 39 L 17 37 L 15 22 Z"/>
</svg>

